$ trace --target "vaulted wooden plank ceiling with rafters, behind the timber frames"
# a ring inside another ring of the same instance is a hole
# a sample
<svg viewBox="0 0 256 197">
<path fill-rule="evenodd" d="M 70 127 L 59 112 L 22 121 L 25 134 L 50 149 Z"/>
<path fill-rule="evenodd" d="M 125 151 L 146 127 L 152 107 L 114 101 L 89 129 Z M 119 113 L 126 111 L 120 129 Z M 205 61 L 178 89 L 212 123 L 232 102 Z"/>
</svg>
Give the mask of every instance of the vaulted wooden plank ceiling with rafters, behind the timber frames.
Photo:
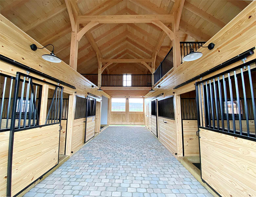
<svg viewBox="0 0 256 197">
<path fill-rule="evenodd" d="M 180 41 L 207 41 L 250 2 L 185 0 Z M 76 0 L 75 4 L 79 15 L 170 14 L 174 0 Z M 64 0 L 1 0 L 0 13 L 42 45 L 53 44 L 55 54 L 69 64 L 71 23 Z M 104 59 L 150 59 L 158 51 L 158 66 L 171 45 L 162 29 L 151 23 L 99 24 L 79 42 L 77 71 L 97 73 L 97 50 Z M 113 63 L 105 73 L 150 71 L 141 63 Z"/>
</svg>

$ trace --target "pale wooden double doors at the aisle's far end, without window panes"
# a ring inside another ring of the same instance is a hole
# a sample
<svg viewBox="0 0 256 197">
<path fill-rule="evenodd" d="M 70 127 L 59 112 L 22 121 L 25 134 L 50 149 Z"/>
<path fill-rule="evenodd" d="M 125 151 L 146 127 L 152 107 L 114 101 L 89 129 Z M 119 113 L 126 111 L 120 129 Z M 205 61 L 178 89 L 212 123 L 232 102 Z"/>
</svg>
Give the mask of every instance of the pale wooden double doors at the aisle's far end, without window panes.
<svg viewBox="0 0 256 197">
<path fill-rule="evenodd" d="M 112 112 L 110 101 L 110 124 L 144 125 L 144 103 L 143 112 L 129 112 L 129 100 L 126 99 L 125 112 Z"/>
</svg>

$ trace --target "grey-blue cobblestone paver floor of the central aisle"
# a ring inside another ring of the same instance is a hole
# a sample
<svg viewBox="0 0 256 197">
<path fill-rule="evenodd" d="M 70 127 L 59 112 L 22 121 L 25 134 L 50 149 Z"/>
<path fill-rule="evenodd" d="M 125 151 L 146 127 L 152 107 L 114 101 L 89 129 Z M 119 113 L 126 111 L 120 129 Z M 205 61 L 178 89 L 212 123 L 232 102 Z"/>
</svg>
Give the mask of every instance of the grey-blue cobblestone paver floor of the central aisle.
<svg viewBox="0 0 256 197">
<path fill-rule="evenodd" d="M 24 196 L 212 196 L 145 128 L 109 126 Z"/>
</svg>

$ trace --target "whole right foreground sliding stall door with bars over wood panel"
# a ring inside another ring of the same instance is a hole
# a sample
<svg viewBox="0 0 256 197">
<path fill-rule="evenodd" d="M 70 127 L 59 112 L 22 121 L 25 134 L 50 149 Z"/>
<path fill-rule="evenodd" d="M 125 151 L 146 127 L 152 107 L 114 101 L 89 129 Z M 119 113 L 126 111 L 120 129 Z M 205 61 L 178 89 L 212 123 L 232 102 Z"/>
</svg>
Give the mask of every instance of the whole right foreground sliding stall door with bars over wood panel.
<svg viewBox="0 0 256 197">
<path fill-rule="evenodd" d="M 256 70 L 196 82 L 201 178 L 220 196 L 256 196 Z"/>
</svg>

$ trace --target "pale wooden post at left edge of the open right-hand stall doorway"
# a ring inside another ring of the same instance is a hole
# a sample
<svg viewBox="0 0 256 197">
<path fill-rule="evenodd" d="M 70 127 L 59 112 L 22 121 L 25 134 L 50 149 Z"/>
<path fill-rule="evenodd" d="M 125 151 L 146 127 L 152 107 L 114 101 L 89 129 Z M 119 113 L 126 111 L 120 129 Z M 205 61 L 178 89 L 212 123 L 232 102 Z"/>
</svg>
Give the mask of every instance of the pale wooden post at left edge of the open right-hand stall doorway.
<svg viewBox="0 0 256 197">
<path fill-rule="evenodd" d="M 175 122 L 176 122 L 176 131 L 177 131 L 177 156 L 183 156 L 182 148 L 182 128 L 181 128 L 181 96 L 174 95 L 175 98 Z"/>
</svg>

